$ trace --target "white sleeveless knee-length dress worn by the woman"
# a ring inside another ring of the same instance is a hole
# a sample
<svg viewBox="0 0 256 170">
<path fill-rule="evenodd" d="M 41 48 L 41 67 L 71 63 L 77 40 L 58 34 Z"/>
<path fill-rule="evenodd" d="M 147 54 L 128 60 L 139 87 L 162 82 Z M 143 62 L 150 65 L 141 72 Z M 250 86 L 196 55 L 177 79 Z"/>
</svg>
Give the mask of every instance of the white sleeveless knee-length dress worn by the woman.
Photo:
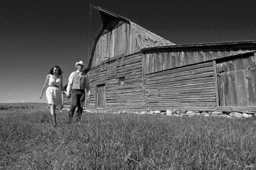
<svg viewBox="0 0 256 170">
<path fill-rule="evenodd" d="M 55 81 L 52 78 L 52 75 L 50 74 L 49 85 L 57 85 L 59 87 L 48 87 L 47 88 L 46 98 L 47 98 L 49 104 L 54 104 L 56 106 L 62 104 L 61 90 L 60 90 L 60 79 L 61 79 L 61 76 L 59 76 L 59 78 Z"/>
</svg>

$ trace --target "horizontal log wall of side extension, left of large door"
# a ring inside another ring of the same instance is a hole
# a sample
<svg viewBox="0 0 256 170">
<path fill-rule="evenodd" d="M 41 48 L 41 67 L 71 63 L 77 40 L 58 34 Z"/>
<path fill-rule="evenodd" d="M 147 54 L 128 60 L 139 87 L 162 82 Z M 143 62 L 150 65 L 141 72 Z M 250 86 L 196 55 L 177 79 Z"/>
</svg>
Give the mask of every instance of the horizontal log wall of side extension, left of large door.
<svg viewBox="0 0 256 170">
<path fill-rule="evenodd" d="M 200 63 L 145 76 L 146 110 L 215 110 L 213 63 Z"/>
</svg>

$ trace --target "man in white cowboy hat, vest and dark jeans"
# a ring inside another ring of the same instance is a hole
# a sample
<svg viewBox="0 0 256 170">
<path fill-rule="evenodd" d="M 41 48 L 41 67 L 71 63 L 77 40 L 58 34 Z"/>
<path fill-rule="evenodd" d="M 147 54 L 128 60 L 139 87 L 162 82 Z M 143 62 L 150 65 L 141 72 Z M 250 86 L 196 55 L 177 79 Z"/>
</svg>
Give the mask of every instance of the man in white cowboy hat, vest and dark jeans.
<svg viewBox="0 0 256 170">
<path fill-rule="evenodd" d="M 85 100 L 85 90 L 88 92 L 88 99 L 91 98 L 91 88 L 88 76 L 83 72 L 84 63 L 80 61 L 76 63 L 77 70 L 72 72 L 68 78 L 67 86 L 67 98 L 70 98 L 69 91 L 72 89 L 72 105 L 68 112 L 69 123 L 73 121 L 73 115 L 76 111 L 76 121 L 81 121 L 81 116 L 83 112 L 84 100 Z"/>
</svg>

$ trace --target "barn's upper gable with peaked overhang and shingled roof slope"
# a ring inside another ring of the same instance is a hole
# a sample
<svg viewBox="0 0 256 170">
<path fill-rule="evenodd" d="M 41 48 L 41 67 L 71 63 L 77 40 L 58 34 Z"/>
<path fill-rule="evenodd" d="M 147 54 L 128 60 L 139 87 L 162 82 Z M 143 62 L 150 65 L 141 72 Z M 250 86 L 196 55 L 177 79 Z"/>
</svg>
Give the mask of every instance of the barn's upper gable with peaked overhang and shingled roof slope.
<svg viewBox="0 0 256 170">
<path fill-rule="evenodd" d="M 94 39 L 92 53 L 84 70 L 85 72 L 92 67 L 100 65 L 101 61 L 107 58 L 110 61 L 111 57 L 122 53 L 126 56 L 140 52 L 141 48 L 177 45 L 139 26 L 128 18 L 116 15 L 101 7 L 90 6 L 99 11 L 102 27 Z"/>
</svg>

